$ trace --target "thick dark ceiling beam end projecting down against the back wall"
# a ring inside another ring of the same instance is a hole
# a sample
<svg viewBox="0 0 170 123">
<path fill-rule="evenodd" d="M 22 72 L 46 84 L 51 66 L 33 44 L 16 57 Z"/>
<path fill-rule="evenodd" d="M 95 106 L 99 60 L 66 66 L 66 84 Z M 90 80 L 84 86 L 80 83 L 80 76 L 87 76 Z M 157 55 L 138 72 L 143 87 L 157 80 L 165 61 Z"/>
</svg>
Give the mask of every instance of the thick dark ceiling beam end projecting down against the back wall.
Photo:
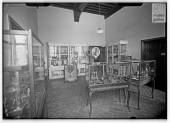
<svg viewBox="0 0 170 123">
<path fill-rule="evenodd" d="M 74 22 L 79 22 L 80 15 L 83 12 L 83 10 L 86 8 L 87 3 L 75 3 L 74 4 Z"/>
</svg>

